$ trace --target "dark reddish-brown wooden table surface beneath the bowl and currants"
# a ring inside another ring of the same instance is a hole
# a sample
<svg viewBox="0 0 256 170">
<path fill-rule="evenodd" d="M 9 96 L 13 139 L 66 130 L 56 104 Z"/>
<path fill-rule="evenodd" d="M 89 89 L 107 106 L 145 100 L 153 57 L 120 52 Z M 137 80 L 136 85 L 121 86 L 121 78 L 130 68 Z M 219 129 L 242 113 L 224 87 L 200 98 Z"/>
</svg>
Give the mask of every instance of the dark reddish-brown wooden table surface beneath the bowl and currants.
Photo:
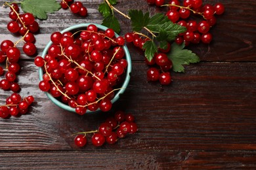
<svg viewBox="0 0 256 170">
<path fill-rule="evenodd" d="M 39 54 L 54 31 L 74 24 L 101 24 L 97 10 L 101 1 L 82 2 L 88 9 L 86 18 L 59 10 L 38 20 Z M 22 54 L 20 95 L 33 95 L 35 102 L 26 115 L 0 119 L 0 169 L 255 169 L 256 3 L 219 2 L 226 11 L 211 29 L 213 42 L 188 47 L 202 61 L 186 65 L 185 73 L 171 73 L 169 86 L 147 82 L 143 53 L 128 45 L 131 81 L 111 112 L 79 116 L 58 108 L 38 89 L 33 58 Z M 115 7 L 150 14 L 166 10 L 142 0 L 120 0 Z M 19 37 L 6 28 L 9 9 L 0 9 L 0 39 L 16 41 Z M 117 18 L 120 35 L 131 31 L 129 20 L 118 14 Z M 11 93 L 0 90 L 1 103 Z M 98 148 L 91 142 L 75 146 L 73 133 L 96 129 L 120 109 L 135 115 L 137 133 Z"/>
</svg>

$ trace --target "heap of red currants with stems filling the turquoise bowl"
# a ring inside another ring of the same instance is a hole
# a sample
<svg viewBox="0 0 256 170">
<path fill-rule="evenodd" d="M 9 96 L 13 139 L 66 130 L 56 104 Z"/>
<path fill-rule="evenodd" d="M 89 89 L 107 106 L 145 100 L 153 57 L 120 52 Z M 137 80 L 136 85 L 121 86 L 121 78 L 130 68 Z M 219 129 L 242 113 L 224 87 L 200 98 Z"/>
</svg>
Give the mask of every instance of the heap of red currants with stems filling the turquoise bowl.
<svg viewBox="0 0 256 170">
<path fill-rule="evenodd" d="M 37 56 L 35 65 L 45 74 L 39 89 L 75 108 L 78 114 L 98 108 L 112 108 L 114 91 L 127 68 L 123 37 L 115 37 L 113 29 L 98 30 L 90 24 L 72 33 L 54 32 L 53 44 L 45 58 Z"/>
</svg>

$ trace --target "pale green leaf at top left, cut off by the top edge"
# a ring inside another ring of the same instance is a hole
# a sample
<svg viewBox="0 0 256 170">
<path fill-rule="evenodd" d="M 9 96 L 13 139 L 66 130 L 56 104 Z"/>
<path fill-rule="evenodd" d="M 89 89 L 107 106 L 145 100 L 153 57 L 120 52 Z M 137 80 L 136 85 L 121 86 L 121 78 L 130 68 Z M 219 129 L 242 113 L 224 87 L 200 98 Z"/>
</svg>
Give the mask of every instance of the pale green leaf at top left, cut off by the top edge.
<svg viewBox="0 0 256 170">
<path fill-rule="evenodd" d="M 30 12 L 42 20 L 47 19 L 47 13 L 53 13 L 61 8 L 60 3 L 55 0 L 23 0 L 20 3 L 24 12 Z"/>
</svg>

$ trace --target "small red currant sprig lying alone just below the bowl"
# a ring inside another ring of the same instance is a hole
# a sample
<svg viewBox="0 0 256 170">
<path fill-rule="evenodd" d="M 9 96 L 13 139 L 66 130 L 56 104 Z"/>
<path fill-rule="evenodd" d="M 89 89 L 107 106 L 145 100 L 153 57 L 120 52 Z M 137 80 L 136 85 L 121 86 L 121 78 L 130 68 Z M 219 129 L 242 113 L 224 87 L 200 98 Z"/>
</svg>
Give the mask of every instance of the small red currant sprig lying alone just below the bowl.
<svg viewBox="0 0 256 170">
<path fill-rule="evenodd" d="M 74 139 L 75 145 L 79 147 L 85 146 L 88 133 L 93 133 L 91 143 L 94 146 L 102 146 L 104 143 L 114 144 L 118 139 L 125 137 L 127 134 L 133 134 L 138 130 L 134 120 L 133 114 L 125 114 L 125 112 L 119 110 L 114 117 L 110 117 L 106 122 L 100 124 L 97 130 L 75 133 L 79 134 Z"/>
</svg>

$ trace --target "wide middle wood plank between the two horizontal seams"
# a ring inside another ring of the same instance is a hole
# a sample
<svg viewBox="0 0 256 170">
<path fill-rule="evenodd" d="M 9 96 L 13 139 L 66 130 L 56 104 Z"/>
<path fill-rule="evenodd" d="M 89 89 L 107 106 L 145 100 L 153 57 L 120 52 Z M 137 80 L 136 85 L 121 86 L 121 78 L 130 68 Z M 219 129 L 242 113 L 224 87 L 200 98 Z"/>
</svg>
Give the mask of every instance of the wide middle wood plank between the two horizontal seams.
<svg viewBox="0 0 256 170">
<path fill-rule="evenodd" d="M 137 118 L 139 132 L 109 149 L 254 150 L 255 63 L 200 63 L 173 73 L 170 86 L 146 83 L 147 66 L 133 62 L 131 82 L 108 113 L 78 116 L 56 107 L 37 88 L 36 68 L 23 62 L 20 94 L 35 95 L 30 114 L 0 120 L 0 149 L 71 149 L 73 133 L 96 129 L 115 110 Z M 28 83 L 29 82 L 29 83 Z M 11 92 L 0 91 L 1 103 Z M 85 149 L 93 148 L 89 143 Z"/>
</svg>

